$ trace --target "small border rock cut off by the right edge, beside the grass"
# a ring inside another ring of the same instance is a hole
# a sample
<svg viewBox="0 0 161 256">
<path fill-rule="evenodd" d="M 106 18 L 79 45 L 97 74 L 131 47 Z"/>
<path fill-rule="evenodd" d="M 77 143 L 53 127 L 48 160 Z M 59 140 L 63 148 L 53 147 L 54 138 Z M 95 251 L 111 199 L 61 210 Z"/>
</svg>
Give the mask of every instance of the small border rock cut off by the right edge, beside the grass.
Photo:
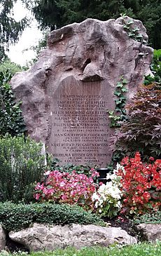
<svg viewBox="0 0 161 256">
<path fill-rule="evenodd" d="M 139 224 L 136 226 L 144 238 L 148 241 L 161 241 L 161 224 Z"/>
</svg>

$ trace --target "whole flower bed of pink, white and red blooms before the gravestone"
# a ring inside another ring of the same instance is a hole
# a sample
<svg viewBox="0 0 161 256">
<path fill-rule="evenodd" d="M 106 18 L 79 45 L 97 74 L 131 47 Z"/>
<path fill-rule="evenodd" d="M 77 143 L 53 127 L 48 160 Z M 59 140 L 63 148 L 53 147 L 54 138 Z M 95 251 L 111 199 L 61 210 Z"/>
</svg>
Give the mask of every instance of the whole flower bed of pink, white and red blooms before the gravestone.
<svg viewBox="0 0 161 256">
<path fill-rule="evenodd" d="M 142 163 L 137 152 L 117 164 L 113 173 L 108 173 L 106 184 L 94 181 L 99 174 L 90 170 L 90 175 L 52 170 L 45 173 L 45 180 L 35 187 L 36 200 L 68 203 L 82 206 L 103 217 L 112 218 L 119 213 L 141 215 L 160 210 L 161 163 L 151 157 Z"/>
</svg>

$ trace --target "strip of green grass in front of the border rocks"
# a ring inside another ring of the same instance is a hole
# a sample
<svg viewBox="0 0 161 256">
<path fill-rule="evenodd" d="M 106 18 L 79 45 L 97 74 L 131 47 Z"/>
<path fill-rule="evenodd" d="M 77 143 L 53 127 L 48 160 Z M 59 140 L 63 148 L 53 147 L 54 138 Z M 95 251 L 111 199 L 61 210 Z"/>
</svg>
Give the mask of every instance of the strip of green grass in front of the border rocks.
<svg viewBox="0 0 161 256">
<path fill-rule="evenodd" d="M 1 256 L 11 256 L 8 252 L 1 252 Z M 12 256 L 26 256 L 25 252 L 13 254 Z M 118 247 L 113 245 L 110 248 L 82 248 L 76 250 L 75 248 L 66 248 L 64 250 L 55 250 L 53 252 L 31 252 L 30 256 L 160 256 L 161 242 L 156 243 L 139 243 L 136 245 L 128 245 Z"/>
</svg>

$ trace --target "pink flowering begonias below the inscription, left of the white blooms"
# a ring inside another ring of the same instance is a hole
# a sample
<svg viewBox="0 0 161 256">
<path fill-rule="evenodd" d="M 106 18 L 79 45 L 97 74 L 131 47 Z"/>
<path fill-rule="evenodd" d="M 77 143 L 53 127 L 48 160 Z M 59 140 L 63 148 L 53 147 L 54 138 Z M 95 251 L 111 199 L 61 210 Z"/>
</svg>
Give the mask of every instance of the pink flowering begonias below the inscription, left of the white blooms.
<svg viewBox="0 0 161 256">
<path fill-rule="evenodd" d="M 56 203 L 69 203 L 92 209 L 92 194 L 97 184 L 94 177 L 99 173 L 90 170 L 91 176 L 78 174 L 76 170 L 71 173 L 52 170 L 45 173 L 45 182 L 36 184 L 34 198 L 38 201 L 52 201 Z"/>
</svg>

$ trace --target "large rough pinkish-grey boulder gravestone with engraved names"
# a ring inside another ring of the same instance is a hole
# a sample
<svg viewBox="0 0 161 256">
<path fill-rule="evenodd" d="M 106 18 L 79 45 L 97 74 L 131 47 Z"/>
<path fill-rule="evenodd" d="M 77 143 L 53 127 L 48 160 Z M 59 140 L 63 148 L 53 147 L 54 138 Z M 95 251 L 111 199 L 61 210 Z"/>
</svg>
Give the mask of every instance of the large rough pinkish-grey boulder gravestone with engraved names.
<svg viewBox="0 0 161 256">
<path fill-rule="evenodd" d="M 128 17 L 87 19 L 52 31 L 34 66 L 10 82 L 22 100 L 28 134 L 62 164 L 105 167 L 114 130 L 107 110 L 116 107 L 121 76 L 128 102 L 150 73 L 153 49 L 147 39 L 142 23 Z"/>
</svg>

